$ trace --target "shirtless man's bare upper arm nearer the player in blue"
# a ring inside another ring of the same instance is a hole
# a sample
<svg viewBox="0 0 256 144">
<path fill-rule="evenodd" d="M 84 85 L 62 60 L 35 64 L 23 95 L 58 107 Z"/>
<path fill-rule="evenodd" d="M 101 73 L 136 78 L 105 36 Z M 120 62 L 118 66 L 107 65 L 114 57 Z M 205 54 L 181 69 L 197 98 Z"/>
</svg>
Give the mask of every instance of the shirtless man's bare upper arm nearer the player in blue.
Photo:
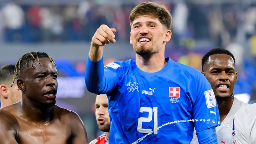
<svg viewBox="0 0 256 144">
<path fill-rule="evenodd" d="M 80 117 L 75 112 L 71 112 L 69 119 L 71 127 L 71 144 L 88 144 L 87 132 Z"/>
</svg>

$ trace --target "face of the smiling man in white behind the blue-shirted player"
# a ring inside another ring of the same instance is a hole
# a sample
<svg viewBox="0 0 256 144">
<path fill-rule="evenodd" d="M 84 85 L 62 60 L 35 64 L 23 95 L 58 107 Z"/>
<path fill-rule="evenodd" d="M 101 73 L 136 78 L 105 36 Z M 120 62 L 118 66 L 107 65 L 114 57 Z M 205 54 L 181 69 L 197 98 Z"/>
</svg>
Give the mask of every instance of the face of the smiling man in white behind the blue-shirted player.
<svg viewBox="0 0 256 144">
<path fill-rule="evenodd" d="M 227 54 L 213 54 L 204 65 L 206 79 L 211 84 L 216 97 L 233 95 L 234 84 L 238 73 L 235 71 L 234 60 Z"/>
</svg>

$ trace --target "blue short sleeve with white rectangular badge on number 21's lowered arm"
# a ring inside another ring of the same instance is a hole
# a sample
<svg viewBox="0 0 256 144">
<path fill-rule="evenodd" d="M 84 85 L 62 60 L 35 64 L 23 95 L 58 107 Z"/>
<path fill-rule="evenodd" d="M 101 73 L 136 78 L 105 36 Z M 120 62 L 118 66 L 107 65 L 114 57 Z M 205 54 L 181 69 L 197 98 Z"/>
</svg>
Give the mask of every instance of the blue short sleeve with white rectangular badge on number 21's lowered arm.
<svg viewBox="0 0 256 144">
<path fill-rule="evenodd" d="M 203 74 L 197 76 L 194 89 L 193 119 L 196 131 L 202 131 L 220 125 L 219 109 L 210 83 Z"/>
</svg>

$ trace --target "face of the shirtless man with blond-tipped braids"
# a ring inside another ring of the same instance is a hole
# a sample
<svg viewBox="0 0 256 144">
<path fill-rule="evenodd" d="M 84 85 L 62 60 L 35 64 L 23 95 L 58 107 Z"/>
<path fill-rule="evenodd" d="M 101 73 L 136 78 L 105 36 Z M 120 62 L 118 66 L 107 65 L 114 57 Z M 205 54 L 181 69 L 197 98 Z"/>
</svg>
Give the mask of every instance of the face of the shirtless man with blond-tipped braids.
<svg viewBox="0 0 256 144">
<path fill-rule="evenodd" d="M 17 84 L 25 96 L 23 101 L 35 107 L 50 107 L 56 101 L 58 88 L 57 69 L 49 58 L 39 58 L 33 61 L 33 66 L 22 68 Z"/>
</svg>

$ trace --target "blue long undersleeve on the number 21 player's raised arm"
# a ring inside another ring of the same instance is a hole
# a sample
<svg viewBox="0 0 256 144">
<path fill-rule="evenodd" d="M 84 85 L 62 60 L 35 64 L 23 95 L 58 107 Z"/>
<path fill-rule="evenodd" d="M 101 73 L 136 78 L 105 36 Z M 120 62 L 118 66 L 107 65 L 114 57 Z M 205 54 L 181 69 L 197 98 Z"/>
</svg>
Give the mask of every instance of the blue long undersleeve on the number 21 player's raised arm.
<svg viewBox="0 0 256 144">
<path fill-rule="evenodd" d="M 85 85 L 89 92 L 100 94 L 99 89 L 103 85 L 104 63 L 103 58 L 99 61 L 93 62 L 87 58 L 85 66 Z"/>
</svg>

